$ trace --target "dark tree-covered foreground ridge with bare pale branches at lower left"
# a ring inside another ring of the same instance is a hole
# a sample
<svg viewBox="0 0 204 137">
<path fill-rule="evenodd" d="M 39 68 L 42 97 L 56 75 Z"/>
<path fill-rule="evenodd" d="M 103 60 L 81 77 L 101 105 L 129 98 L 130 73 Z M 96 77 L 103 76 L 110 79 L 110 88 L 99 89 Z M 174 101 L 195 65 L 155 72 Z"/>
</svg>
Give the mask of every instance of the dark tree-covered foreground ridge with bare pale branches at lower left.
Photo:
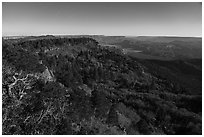
<svg viewBox="0 0 204 137">
<path fill-rule="evenodd" d="M 201 85 L 194 93 L 184 81 L 191 72 L 185 78 L 201 82 L 195 61 L 169 69 L 91 38 L 3 40 L 2 48 L 5 135 L 202 134 Z"/>
</svg>

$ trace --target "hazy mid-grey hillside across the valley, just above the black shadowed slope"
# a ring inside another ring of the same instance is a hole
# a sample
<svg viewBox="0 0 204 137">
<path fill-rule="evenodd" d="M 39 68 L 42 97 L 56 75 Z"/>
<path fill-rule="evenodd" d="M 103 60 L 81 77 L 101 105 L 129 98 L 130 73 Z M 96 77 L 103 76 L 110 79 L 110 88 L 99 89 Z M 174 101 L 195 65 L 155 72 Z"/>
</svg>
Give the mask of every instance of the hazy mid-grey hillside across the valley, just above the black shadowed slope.
<svg viewBox="0 0 204 137">
<path fill-rule="evenodd" d="M 122 42 L 112 43 L 119 45 L 123 49 L 130 49 L 132 56 L 138 56 L 138 53 L 132 53 L 134 50 L 141 51 L 140 54 L 151 55 L 160 59 L 200 59 L 202 58 L 202 41 L 195 39 L 194 41 L 174 40 L 170 42 L 140 41 L 140 40 L 124 40 Z"/>
</svg>

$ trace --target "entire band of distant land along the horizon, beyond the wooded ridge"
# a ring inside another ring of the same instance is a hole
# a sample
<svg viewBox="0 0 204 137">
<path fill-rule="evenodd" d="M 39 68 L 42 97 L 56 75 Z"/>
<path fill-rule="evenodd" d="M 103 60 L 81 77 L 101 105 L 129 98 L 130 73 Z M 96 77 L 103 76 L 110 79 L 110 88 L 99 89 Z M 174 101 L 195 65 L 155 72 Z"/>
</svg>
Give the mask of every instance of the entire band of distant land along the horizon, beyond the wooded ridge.
<svg viewBox="0 0 204 137">
<path fill-rule="evenodd" d="M 17 40 L 18 37 L 6 39 Z M 172 36 L 43 35 L 19 37 L 21 41 L 49 38 L 93 38 L 100 45 L 113 45 L 128 55 L 144 59 L 200 59 L 202 38 Z M 140 51 L 137 53 L 135 51 Z"/>
</svg>

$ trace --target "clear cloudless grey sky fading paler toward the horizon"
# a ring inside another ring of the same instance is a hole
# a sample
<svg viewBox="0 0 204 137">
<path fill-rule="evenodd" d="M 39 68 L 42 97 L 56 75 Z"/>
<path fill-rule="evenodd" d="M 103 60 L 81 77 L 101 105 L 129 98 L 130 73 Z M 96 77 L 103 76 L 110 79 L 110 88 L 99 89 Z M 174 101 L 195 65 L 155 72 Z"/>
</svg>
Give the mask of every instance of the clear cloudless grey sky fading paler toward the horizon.
<svg viewBox="0 0 204 137">
<path fill-rule="evenodd" d="M 2 3 L 2 35 L 202 36 L 201 3 Z"/>
</svg>

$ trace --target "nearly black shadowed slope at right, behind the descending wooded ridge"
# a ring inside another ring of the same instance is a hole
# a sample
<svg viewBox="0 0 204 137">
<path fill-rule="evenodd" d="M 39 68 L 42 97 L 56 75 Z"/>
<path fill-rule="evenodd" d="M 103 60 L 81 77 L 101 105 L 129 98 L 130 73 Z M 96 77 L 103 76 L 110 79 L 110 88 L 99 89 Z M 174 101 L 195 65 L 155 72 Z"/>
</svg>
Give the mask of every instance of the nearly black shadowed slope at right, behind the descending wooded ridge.
<svg viewBox="0 0 204 137">
<path fill-rule="evenodd" d="M 202 95 L 202 60 L 138 60 L 152 75 L 180 85 L 185 93 Z"/>
</svg>

